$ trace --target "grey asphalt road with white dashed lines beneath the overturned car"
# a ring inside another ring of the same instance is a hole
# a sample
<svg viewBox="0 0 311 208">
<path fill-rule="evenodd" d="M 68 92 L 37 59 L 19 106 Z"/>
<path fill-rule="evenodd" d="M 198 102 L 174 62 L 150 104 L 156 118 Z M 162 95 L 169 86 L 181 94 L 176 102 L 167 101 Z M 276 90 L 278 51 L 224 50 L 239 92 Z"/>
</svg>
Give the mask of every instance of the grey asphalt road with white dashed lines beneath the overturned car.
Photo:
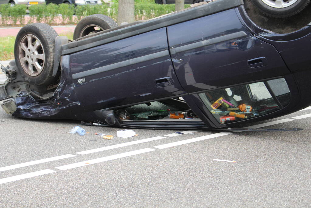
<svg viewBox="0 0 311 208">
<path fill-rule="evenodd" d="M 307 109 L 250 124 L 283 121 L 267 128 L 304 127 L 299 132 L 137 129 L 119 138 L 118 128 L 84 126 L 90 133 L 73 135 L 79 121 L 20 119 L 1 109 L 0 206 L 310 207 L 310 116 Z"/>
</svg>

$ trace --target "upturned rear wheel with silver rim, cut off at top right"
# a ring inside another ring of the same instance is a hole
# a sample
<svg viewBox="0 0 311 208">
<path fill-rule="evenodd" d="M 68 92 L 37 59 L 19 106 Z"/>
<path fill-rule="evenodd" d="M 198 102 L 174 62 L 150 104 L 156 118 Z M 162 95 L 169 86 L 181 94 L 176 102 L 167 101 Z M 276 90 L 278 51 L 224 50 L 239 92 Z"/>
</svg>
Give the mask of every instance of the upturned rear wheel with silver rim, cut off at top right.
<svg viewBox="0 0 311 208">
<path fill-rule="evenodd" d="M 254 5 L 270 17 L 290 17 L 301 12 L 310 0 L 254 0 Z"/>
</svg>

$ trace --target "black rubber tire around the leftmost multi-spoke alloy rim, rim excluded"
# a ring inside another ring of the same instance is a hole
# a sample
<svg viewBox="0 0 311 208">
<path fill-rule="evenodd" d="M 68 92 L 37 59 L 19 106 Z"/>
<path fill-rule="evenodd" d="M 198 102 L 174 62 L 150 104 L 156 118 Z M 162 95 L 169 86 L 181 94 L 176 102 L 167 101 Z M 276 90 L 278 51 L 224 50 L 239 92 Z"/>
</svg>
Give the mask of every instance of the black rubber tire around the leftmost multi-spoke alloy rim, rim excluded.
<svg viewBox="0 0 311 208">
<path fill-rule="evenodd" d="M 54 44 L 55 44 L 55 38 L 57 35 L 54 37 L 54 40 L 51 40 L 52 44 L 50 45 L 53 45 L 53 47 L 52 48 L 48 47 L 49 41 L 46 39 L 44 34 L 37 27 L 37 26 L 41 26 L 38 24 L 43 24 L 43 23 L 34 23 L 34 24 L 26 25 L 23 28 L 21 28 L 21 30 L 18 32 L 16 36 L 16 40 L 15 40 L 15 45 L 14 45 L 14 57 L 16 60 L 17 69 L 21 72 L 21 76 L 26 81 L 34 85 L 48 86 L 49 84 L 53 83 L 56 79 L 52 77 L 52 73 L 53 73 L 53 63 L 54 63 Z M 49 25 L 46 25 L 46 26 L 49 26 Z M 21 66 L 20 57 L 19 57 L 19 45 L 21 43 L 21 40 L 26 35 L 35 35 L 40 40 L 41 44 L 43 45 L 45 60 L 44 60 L 43 70 L 37 76 L 30 76 L 29 74 L 24 72 L 24 69 Z"/>
</svg>

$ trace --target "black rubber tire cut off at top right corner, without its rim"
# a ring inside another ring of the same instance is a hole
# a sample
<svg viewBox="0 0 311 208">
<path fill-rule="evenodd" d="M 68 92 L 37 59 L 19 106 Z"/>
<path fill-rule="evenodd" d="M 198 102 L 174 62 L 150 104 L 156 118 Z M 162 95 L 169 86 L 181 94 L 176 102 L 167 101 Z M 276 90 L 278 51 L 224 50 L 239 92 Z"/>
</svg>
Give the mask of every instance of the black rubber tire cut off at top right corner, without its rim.
<svg viewBox="0 0 311 208">
<path fill-rule="evenodd" d="M 298 0 L 293 5 L 285 8 L 270 7 L 261 0 L 253 0 L 253 4 L 261 10 L 264 14 L 270 17 L 290 17 L 299 13 L 306 5 L 309 4 L 309 0 Z"/>
</svg>

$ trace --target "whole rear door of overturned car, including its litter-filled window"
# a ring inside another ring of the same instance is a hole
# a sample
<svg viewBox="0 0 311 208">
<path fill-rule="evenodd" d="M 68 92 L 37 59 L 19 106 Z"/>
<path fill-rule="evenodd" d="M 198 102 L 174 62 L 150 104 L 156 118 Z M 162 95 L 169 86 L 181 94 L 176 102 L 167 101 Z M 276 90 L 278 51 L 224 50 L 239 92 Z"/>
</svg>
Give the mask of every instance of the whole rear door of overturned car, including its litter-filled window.
<svg viewBox="0 0 311 208">
<path fill-rule="evenodd" d="M 235 9 L 167 30 L 177 77 L 185 91 L 193 94 L 184 99 L 201 106 L 196 113 L 206 116 L 211 125 L 254 119 L 290 102 L 289 88 L 281 78 L 290 71 L 279 52 L 249 33 Z M 273 91 L 281 86 L 275 83 L 282 83 L 285 90 Z"/>
</svg>

